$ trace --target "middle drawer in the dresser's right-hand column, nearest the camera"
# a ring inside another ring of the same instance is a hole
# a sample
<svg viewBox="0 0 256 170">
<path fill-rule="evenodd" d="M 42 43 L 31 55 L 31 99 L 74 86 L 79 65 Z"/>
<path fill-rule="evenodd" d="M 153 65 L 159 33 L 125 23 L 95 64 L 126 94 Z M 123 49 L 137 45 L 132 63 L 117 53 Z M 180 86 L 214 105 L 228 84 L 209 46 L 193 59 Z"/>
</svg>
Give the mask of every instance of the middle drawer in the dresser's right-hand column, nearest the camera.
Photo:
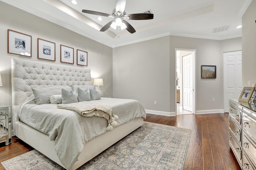
<svg viewBox="0 0 256 170">
<path fill-rule="evenodd" d="M 243 134 L 242 141 L 243 151 L 246 152 L 252 163 L 256 164 L 256 144 L 246 134 Z"/>
</svg>

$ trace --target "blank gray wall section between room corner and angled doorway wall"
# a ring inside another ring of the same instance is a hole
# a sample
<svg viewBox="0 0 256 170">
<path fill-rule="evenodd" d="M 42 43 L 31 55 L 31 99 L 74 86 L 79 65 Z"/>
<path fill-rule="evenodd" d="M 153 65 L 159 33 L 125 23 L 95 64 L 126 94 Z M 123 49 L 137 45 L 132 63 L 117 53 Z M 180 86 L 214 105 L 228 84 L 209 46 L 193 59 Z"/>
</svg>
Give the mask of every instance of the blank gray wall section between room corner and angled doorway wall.
<svg viewBox="0 0 256 170">
<path fill-rule="evenodd" d="M 162 37 L 113 49 L 115 98 L 136 99 L 145 109 L 170 111 L 169 39 Z"/>
</svg>

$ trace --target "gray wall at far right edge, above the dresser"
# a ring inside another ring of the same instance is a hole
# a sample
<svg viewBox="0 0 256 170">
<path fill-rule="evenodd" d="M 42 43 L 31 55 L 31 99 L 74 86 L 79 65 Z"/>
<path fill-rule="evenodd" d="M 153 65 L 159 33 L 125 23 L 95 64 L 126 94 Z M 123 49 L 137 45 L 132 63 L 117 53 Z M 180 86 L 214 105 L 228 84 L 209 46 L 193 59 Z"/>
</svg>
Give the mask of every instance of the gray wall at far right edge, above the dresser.
<svg viewBox="0 0 256 170">
<path fill-rule="evenodd" d="M 256 83 L 256 1 L 253 0 L 242 17 L 242 85 Z"/>
</svg>

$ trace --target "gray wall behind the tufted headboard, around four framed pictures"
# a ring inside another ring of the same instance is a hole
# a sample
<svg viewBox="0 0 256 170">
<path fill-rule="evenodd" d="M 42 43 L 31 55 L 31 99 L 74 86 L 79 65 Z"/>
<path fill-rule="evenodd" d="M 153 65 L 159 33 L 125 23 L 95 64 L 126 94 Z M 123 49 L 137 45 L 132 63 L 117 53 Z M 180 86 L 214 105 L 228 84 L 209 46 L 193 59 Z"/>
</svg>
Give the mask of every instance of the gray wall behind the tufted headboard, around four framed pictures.
<svg viewBox="0 0 256 170">
<path fill-rule="evenodd" d="M 4 2 L 0 2 L 0 73 L 3 86 L 0 86 L 0 104 L 12 104 L 11 98 L 11 58 L 46 63 L 76 65 L 76 49 L 88 52 L 88 66 L 92 69 L 92 77 L 103 78 L 102 94 L 112 94 L 112 48 L 92 39 L 74 33 L 54 23 L 19 10 Z M 7 53 L 7 29 L 32 35 L 32 57 L 22 57 Z M 37 59 L 37 38 L 56 43 L 56 61 Z M 60 63 L 60 44 L 74 48 L 74 64 Z M 83 66 L 78 66 L 83 67 Z"/>
</svg>

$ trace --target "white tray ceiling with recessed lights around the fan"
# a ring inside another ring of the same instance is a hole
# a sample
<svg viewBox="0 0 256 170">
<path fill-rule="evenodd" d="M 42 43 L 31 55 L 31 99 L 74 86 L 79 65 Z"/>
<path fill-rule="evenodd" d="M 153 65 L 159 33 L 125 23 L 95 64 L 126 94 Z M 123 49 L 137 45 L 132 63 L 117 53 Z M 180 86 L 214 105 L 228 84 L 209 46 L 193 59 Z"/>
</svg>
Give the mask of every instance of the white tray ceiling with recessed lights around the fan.
<svg viewBox="0 0 256 170">
<path fill-rule="evenodd" d="M 115 0 L 1 0 L 31 14 L 54 22 L 110 47 L 118 47 L 166 35 L 205 39 L 229 39 L 242 36 L 242 16 L 252 0 L 126 0 L 126 14 L 150 10 L 153 20 L 126 20 L 136 30 L 99 30 L 112 18 L 82 13 L 92 10 L 111 14 Z M 212 33 L 216 27 L 229 29 Z"/>
</svg>

